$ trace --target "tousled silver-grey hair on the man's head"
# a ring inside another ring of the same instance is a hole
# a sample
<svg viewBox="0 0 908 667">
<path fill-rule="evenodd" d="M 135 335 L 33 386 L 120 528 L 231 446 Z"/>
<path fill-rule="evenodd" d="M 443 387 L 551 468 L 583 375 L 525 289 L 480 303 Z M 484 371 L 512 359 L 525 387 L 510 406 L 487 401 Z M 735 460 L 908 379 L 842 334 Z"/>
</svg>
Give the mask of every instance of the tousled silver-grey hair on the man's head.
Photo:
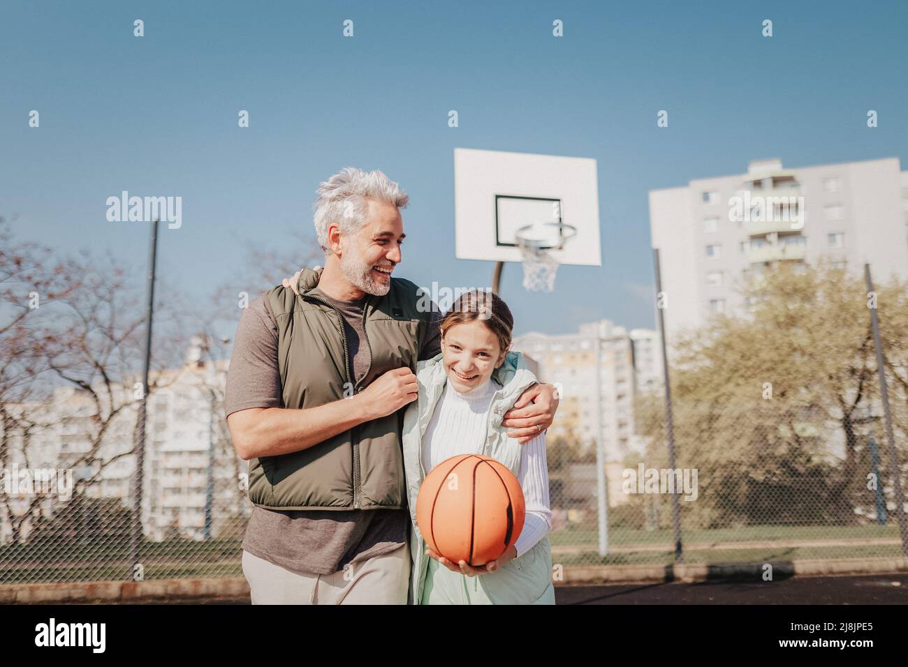
<svg viewBox="0 0 908 667">
<path fill-rule="evenodd" d="M 383 172 L 363 172 L 356 167 L 344 167 L 324 181 L 316 191 L 319 198 L 312 204 L 315 211 L 315 233 L 325 254 L 328 247 L 328 226 L 337 224 L 343 232 L 357 231 L 366 223 L 369 212 L 367 200 L 385 201 L 399 209 L 407 208 L 410 195 L 400 190 Z"/>
</svg>

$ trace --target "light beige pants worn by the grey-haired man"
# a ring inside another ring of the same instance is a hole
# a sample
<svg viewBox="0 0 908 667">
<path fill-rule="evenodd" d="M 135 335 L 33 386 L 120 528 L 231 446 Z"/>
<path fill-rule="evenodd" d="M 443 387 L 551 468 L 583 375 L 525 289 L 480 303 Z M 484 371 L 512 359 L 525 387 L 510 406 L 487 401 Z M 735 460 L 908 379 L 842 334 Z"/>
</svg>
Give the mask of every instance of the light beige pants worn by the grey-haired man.
<svg viewBox="0 0 908 667">
<path fill-rule="evenodd" d="M 243 551 L 242 574 L 252 604 L 406 604 L 410 546 L 351 563 L 334 574 L 287 570 Z"/>
</svg>

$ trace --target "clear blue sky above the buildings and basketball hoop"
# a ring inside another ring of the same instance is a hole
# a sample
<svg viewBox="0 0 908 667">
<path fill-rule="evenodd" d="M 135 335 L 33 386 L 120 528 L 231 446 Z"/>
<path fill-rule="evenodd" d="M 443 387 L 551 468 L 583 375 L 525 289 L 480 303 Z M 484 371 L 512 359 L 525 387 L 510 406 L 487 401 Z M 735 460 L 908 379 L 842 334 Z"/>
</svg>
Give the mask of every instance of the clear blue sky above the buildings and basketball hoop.
<svg viewBox="0 0 908 667">
<path fill-rule="evenodd" d="M 563 267 L 544 294 L 508 264 L 502 296 L 518 333 L 600 317 L 652 327 L 647 191 L 766 157 L 906 168 L 906 25 L 908 4 L 883 1 L 4 0 L 0 215 L 60 251 L 112 250 L 141 281 L 148 226 L 106 221 L 104 201 L 182 196 L 160 270 L 205 299 L 250 242 L 286 247 L 299 229 L 314 242 L 320 181 L 379 168 L 411 196 L 399 274 L 489 285 L 491 263 L 454 258 L 453 149 L 592 157 L 603 266 Z"/>
</svg>

